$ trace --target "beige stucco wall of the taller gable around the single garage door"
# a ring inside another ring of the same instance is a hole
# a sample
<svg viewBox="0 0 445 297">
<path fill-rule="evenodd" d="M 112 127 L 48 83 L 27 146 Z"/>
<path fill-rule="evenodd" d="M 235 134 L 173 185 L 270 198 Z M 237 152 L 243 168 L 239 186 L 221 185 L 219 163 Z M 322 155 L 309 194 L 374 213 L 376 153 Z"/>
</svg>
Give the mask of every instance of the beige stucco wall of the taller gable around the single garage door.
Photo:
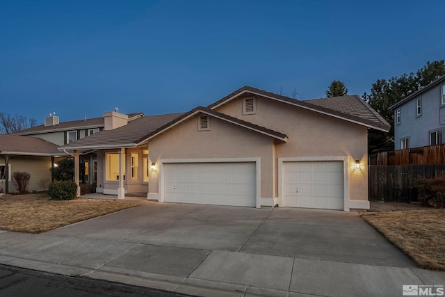
<svg viewBox="0 0 445 297">
<path fill-rule="evenodd" d="M 243 115 L 241 98 L 219 106 L 216 111 L 286 134 L 289 141 L 276 146 L 276 159 L 348 156 L 349 200 L 368 200 L 366 127 L 264 97 L 257 96 L 256 104 L 254 115 Z M 354 170 L 356 159 L 361 160 L 361 170 Z M 277 182 L 276 177 L 276 189 Z"/>
</svg>

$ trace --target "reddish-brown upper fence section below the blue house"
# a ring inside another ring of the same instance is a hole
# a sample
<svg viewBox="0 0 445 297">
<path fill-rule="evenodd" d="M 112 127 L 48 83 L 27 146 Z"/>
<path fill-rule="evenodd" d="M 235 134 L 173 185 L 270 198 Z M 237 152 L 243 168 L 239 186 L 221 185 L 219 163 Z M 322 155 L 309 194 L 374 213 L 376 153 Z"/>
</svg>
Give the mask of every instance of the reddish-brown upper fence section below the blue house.
<svg viewBox="0 0 445 297">
<path fill-rule="evenodd" d="M 379 152 L 369 156 L 370 165 L 445 164 L 445 144 Z"/>
</svg>

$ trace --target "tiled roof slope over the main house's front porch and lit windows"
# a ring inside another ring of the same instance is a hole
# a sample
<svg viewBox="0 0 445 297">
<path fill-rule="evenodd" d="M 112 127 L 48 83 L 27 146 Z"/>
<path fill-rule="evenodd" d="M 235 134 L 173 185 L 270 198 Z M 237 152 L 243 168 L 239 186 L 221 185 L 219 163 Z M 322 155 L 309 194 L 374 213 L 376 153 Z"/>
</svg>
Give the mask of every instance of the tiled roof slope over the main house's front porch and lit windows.
<svg viewBox="0 0 445 297">
<path fill-rule="evenodd" d="M 166 123 L 178 118 L 183 113 L 170 113 L 167 115 L 146 115 L 143 118 L 132 120 L 127 125 L 113 130 L 101 131 L 88 137 L 81 138 L 70 144 L 63 145 L 62 149 L 75 150 L 81 148 L 113 148 L 133 147 L 140 139 L 162 127 Z"/>
</svg>

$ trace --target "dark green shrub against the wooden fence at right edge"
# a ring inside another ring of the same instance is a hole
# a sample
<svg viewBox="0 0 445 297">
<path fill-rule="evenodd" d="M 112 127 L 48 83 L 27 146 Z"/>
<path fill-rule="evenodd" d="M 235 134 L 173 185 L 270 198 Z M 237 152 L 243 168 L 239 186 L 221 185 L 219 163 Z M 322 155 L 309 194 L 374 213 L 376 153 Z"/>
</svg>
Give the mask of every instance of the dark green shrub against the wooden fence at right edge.
<svg viewBox="0 0 445 297">
<path fill-rule="evenodd" d="M 423 206 L 445 208 L 445 177 L 419 179 L 414 187 Z"/>
</svg>

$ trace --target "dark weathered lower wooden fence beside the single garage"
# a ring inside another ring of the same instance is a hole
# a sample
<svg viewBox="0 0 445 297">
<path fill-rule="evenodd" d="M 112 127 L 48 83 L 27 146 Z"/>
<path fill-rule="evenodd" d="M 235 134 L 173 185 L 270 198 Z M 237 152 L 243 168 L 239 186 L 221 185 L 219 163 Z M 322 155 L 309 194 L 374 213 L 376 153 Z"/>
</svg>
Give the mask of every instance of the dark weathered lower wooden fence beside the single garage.
<svg viewBox="0 0 445 297">
<path fill-rule="evenodd" d="M 417 200 L 417 192 L 413 186 L 418 179 L 442 175 L 445 175 L 445 164 L 369 165 L 369 200 L 385 202 L 415 201 Z"/>
</svg>

